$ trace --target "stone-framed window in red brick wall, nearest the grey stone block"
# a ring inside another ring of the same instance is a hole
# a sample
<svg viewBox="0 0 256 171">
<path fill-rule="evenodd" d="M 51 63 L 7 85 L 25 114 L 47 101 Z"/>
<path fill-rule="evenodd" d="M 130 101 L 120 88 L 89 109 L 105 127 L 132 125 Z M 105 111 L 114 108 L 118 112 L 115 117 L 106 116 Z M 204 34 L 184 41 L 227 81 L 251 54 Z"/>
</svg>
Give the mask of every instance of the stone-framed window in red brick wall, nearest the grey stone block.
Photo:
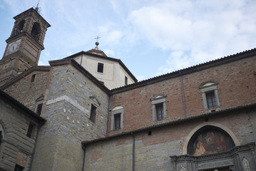
<svg viewBox="0 0 256 171">
<path fill-rule="evenodd" d="M 123 128 L 123 105 L 116 105 L 111 110 L 111 130 Z"/>
</svg>

